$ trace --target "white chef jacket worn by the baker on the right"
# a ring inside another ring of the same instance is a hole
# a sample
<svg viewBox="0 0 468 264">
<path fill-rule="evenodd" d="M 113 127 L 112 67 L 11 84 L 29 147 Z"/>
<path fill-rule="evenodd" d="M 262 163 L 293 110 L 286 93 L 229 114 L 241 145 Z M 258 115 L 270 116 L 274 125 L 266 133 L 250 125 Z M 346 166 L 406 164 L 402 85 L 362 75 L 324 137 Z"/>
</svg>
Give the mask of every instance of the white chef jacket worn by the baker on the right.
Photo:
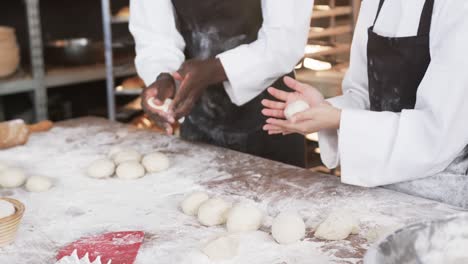
<svg viewBox="0 0 468 264">
<path fill-rule="evenodd" d="M 374 31 L 417 34 L 425 0 L 386 0 Z M 435 0 L 431 63 L 419 85 L 416 107 L 401 113 L 369 111 L 367 30 L 379 0 L 364 0 L 354 34 L 339 131 L 319 133 L 323 162 L 341 163 L 344 183 L 380 186 L 443 171 L 468 144 L 468 1 Z"/>
</svg>

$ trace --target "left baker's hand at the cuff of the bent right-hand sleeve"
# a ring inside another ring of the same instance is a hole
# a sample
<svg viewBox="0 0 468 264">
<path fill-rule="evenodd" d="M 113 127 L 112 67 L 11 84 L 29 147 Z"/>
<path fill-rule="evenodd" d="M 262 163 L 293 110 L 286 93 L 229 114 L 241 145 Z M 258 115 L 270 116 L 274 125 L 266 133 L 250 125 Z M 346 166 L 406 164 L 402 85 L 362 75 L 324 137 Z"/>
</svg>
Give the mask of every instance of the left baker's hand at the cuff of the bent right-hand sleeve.
<svg viewBox="0 0 468 264">
<path fill-rule="evenodd" d="M 221 83 L 227 79 L 221 61 L 216 58 L 188 60 L 182 64 L 173 76 L 181 82 L 179 90 L 169 107 L 176 119 L 190 113 L 208 86 Z"/>
</svg>

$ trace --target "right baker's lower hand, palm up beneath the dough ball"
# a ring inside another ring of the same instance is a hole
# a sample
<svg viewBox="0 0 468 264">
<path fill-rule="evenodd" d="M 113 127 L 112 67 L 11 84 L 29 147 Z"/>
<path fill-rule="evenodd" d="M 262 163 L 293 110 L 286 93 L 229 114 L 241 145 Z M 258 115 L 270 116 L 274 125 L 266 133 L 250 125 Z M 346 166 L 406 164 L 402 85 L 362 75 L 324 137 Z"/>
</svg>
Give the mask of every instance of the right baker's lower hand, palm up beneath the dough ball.
<svg viewBox="0 0 468 264">
<path fill-rule="evenodd" d="M 333 107 L 327 101 L 295 114 L 291 120 L 268 118 L 263 127 L 268 134 L 298 133 L 307 135 L 321 130 L 339 129 L 341 110 Z"/>
</svg>

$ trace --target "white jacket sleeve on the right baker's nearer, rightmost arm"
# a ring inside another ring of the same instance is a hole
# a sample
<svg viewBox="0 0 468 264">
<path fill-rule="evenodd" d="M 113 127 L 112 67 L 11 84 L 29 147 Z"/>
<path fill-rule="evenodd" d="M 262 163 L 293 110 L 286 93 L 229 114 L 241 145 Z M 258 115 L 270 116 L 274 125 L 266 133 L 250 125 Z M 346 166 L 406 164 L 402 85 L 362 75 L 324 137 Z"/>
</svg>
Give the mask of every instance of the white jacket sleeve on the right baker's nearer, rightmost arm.
<svg viewBox="0 0 468 264">
<path fill-rule="evenodd" d="M 468 2 L 436 3 L 442 6 L 433 15 L 432 60 L 415 109 L 342 111 L 338 144 L 344 183 L 373 187 L 431 176 L 468 144 Z"/>
</svg>

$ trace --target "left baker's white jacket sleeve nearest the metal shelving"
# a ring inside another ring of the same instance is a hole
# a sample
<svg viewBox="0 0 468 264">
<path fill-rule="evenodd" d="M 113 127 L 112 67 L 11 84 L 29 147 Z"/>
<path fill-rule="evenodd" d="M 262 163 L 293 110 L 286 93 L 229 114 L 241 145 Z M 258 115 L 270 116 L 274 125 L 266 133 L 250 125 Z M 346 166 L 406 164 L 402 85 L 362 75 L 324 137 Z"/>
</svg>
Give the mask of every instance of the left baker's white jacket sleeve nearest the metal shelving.
<svg viewBox="0 0 468 264">
<path fill-rule="evenodd" d="M 146 85 L 162 72 L 179 69 L 185 60 L 185 42 L 170 0 L 130 1 L 129 28 L 136 44 L 137 72 Z"/>
</svg>

